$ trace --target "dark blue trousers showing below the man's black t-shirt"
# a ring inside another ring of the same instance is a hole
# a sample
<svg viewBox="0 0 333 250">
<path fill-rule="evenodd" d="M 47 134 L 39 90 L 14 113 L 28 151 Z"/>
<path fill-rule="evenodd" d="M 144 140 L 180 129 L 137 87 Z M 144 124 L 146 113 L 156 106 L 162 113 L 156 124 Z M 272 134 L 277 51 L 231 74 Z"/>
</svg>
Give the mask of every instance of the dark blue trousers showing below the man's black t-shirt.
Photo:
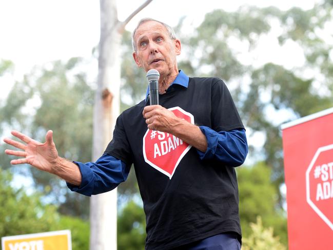
<svg viewBox="0 0 333 250">
<path fill-rule="evenodd" d="M 237 234 L 219 234 L 192 242 L 174 250 L 241 250 Z"/>
</svg>

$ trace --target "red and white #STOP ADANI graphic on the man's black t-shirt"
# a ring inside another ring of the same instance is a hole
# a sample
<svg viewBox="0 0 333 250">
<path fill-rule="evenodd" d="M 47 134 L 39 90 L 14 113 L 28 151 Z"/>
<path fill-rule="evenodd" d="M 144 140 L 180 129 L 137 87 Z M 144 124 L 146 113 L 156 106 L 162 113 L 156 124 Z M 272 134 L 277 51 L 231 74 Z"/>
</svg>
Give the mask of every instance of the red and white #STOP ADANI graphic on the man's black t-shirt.
<svg viewBox="0 0 333 250">
<path fill-rule="evenodd" d="M 180 107 L 169 108 L 175 116 L 194 124 L 191 113 Z M 172 178 L 180 161 L 191 146 L 170 133 L 147 129 L 143 137 L 143 155 L 145 162 Z"/>
</svg>

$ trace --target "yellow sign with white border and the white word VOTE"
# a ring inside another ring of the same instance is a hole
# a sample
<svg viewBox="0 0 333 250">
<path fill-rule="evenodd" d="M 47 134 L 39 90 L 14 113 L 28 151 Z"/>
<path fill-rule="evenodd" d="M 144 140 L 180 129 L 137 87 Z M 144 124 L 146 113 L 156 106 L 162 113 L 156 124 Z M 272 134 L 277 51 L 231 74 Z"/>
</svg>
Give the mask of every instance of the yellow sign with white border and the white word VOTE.
<svg viewBox="0 0 333 250">
<path fill-rule="evenodd" d="M 1 238 L 3 250 L 72 250 L 70 230 Z"/>
</svg>

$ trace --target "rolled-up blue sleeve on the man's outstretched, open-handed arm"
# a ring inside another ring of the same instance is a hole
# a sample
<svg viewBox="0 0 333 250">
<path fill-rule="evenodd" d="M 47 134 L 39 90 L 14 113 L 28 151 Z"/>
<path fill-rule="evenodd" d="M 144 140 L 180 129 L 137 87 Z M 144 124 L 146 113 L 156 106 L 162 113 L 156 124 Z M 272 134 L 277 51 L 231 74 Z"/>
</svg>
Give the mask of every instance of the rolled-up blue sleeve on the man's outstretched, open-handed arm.
<svg viewBox="0 0 333 250">
<path fill-rule="evenodd" d="M 104 155 L 95 162 L 75 162 L 79 166 L 82 175 L 80 186 L 74 186 L 67 182 L 70 190 L 91 196 L 105 193 L 126 181 L 130 166 L 113 156 Z"/>
</svg>

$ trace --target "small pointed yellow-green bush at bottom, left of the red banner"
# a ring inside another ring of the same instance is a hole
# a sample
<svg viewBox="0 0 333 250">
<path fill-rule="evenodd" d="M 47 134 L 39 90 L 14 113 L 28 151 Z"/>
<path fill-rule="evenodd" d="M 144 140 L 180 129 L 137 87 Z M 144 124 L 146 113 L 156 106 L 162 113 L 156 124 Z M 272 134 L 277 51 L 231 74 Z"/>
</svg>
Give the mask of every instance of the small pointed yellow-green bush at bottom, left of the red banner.
<svg viewBox="0 0 333 250">
<path fill-rule="evenodd" d="M 264 228 L 260 216 L 256 223 L 250 223 L 251 234 L 243 238 L 243 250 L 285 250 L 287 249 L 280 243 L 279 237 L 273 236 L 273 228 Z"/>
</svg>

